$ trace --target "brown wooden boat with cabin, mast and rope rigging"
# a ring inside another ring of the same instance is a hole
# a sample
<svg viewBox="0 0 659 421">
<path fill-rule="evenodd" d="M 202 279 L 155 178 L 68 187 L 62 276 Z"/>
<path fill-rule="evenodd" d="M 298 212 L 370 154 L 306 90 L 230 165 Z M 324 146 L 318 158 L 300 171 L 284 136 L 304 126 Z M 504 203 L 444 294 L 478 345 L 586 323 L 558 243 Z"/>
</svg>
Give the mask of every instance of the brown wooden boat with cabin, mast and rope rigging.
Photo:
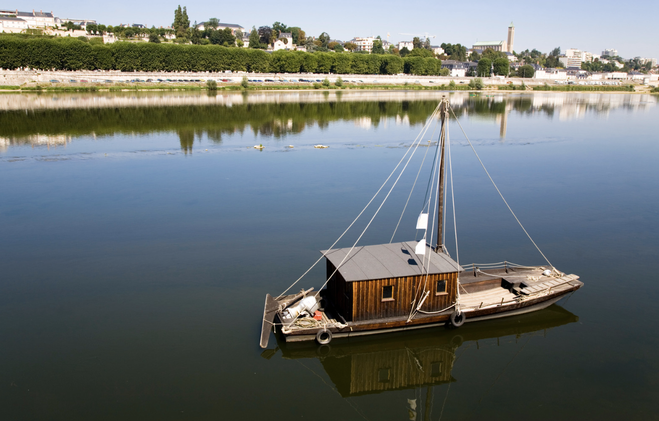
<svg viewBox="0 0 659 421">
<path fill-rule="evenodd" d="M 266 295 L 260 341 L 262 348 L 267 347 L 273 329 L 287 342 L 315 340 L 325 345 L 342 337 L 440 325 L 459 327 L 465 322 L 513 316 L 546 308 L 583 285 L 577 275 L 566 275 L 558 271 L 548 260 L 544 266 L 500 262 L 463 267 L 449 256 L 444 245 L 446 156 L 450 163 L 450 142 L 446 128 L 449 109 L 449 101 L 442 99 L 426 123 L 427 127 L 436 113 L 439 113 L 442 127 L 430 176 L 430 197 L 424 205 L 427 212 L 422 211 L 416 225 L 417 229 L 424 230 L 424 239 L 419 242 L 373 246 L 357 246 L 355 242 L 351 248 L 324 250 L 321 259 L 326 259 L 326 288 L 318 292 L 302 289 L 299 294 L 280 295 L 277 298 Z M 416 147 L 421 139 L 422 136 L 417 138 L 418 142 L 415 140 Z M 432 227 L 429 229 L 431 204 L 435 205 L 432 215 L 436 215 L 436 219 L 432 218 Z M 453 215 L 455 217 L 455 212 Z M 437 235 L 433 246 L 435 222 Z M 426 241 L 428 233 L 430 244 Z M 530 236 L 529 239 L 533 242 Z M 535 242 L 533 244 L 536 246 Z M 540 248 L 538 251 L 542 254 Z M 455 252 L 457 257 L 457 239 Z"/>
</svg>

